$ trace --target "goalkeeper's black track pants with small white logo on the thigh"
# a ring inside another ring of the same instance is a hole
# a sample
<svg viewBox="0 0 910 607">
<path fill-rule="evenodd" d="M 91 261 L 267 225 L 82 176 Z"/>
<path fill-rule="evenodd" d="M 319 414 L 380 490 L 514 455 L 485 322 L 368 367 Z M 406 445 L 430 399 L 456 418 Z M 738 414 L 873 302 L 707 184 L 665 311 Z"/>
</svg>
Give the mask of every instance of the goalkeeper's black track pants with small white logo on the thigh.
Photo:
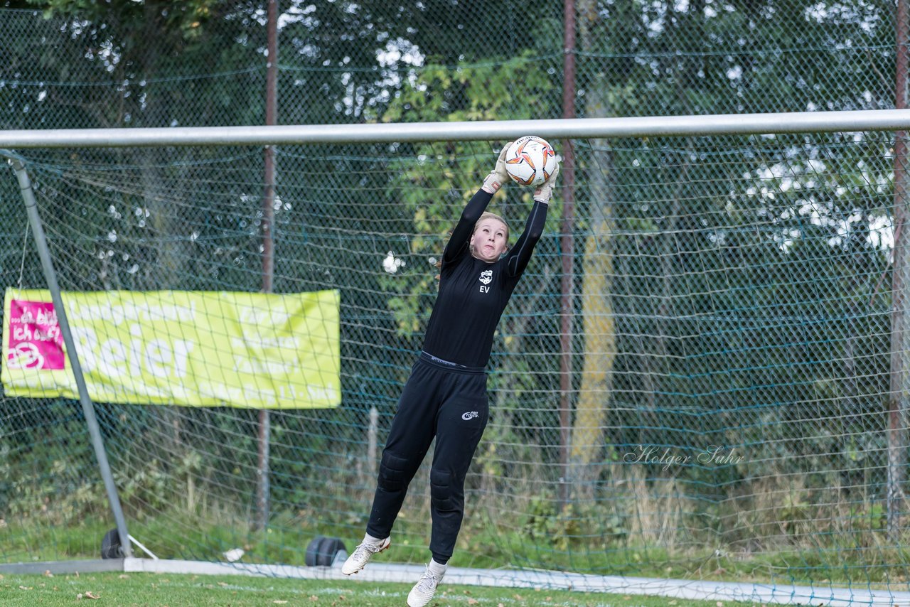
<svg viewBox="0 0 910 607">
<path fill-rule="evenodd" d="M 482 369 L 454 369 L 421 355 L 399 399 L 379 463 L 367 532 L 388 537 L 408 485 L 436 438 L 430 469 L 430 551 L 449 560 L 464 515 L 464 478 L 487 426 L 487 377 Z"/>
</svg>

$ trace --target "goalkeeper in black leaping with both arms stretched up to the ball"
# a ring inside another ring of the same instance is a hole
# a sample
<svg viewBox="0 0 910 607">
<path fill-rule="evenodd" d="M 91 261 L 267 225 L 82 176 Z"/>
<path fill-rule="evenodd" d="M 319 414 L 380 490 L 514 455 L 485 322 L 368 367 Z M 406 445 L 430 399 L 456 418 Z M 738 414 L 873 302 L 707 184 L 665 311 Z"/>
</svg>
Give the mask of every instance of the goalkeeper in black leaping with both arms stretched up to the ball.
<svg viewBox="0 0 910 607">
<path fill-rule="evenodd" d="M 493 194 L 510 181 L 507 148 L 502 148 L 496 167 L 461 212 L 442 254 L 439 294 L 423 351 L 411 368 L 382 451 L 367 533 L 342 568 L 346 575 L 359 572 L 374 554 L 389 548 L 408 485 L 435 437 L 430 469 L 432 560 L 408 595 L 410 607 L 432 600 L 455 547 L 464 513 L 465 475 L 487 425 L 484 368 L 493 332 L 541 238 L 559 174 L 557 166 L 534 191 L 524 232 L 509 249 L 509 227 L 501 217 L 485 212 Z"/>
</svg>

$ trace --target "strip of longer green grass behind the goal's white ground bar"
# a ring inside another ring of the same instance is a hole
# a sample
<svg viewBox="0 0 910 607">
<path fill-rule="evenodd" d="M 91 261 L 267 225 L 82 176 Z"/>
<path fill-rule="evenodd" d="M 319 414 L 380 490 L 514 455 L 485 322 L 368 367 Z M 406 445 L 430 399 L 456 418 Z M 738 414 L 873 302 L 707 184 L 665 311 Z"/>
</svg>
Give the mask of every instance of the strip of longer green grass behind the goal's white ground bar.
<svg viewBox="0 0 910 607">
<path fill-rule="evenodd" d="M 320 523 L 314 528 L 307 521 L 278 519 L 268 533 L 244 531 L 239 524 L 213 525 L 190 521 L 192 525 L 174 528 L 177 518 L 158 517 L 131 521 L 130 531 L 163 559 L 219 560 L 222 552 L 242 547 L 247 553 L 242 562 L 267 562 L 304 565 L 308 542 L 316 535 L 342 538 L 349 549 L 359 534 L 343 525 Z M 59 561 L 97 559 L 101 538 L 110 522 L 85 519 L 72 527 L 36 524 L 0 527 L 0 561 Z M 425 526 L 410 520 L 397 523 L 392 549 L 384 554 L 386 562 L 422 564 L 429 558 Z M 410 544 L 409 544 L 410 538 Z M 459 549 L 450 561 L 454 567 L 532 568 L 581 573 L 608 573 L 635 577 L 682 578 L 734 582 L 813 582 L 877 587 L 901 584 L 905 589 L 910 562 L 906 550 L 860 550 L 857 547 L 835 550 L 774 551 L 748 556 L 736 553 L 714 556 L 710 548 L 698 553 L 671 554 L 659 547 L 614 547 L 590 551 L 584 546 L 549 545 L 514 532 L 496 533 L 466 525 Z M 142 557 L 136 550 L 136 556 Z M 895 564 L 898 563 L 898 564 Z M 891 586 L 893 587 L 893 586 Z"/>
</svg>

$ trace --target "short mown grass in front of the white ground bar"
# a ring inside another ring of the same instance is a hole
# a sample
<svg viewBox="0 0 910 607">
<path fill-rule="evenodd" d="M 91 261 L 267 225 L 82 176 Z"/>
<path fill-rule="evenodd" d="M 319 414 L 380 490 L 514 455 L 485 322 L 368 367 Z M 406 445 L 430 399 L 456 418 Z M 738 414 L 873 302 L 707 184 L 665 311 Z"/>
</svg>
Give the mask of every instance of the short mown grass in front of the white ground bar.
<svg viewBox="0 0 910 607">
<path fill-rule="evenodd" d="M 89 575 L 5 575 L 0 579 L 3 605 L 349 605 L 400 607 L 410 584 L 320 582 L 238 576 L 171 575 L 157 573 L 96 573 Z M 433 607 L 541 605 L 544 607 L 724 607 L 743 603 L 683 601 L 625 594 L 550 590 L 482 588 L 443 585 Z"/>
</svg>

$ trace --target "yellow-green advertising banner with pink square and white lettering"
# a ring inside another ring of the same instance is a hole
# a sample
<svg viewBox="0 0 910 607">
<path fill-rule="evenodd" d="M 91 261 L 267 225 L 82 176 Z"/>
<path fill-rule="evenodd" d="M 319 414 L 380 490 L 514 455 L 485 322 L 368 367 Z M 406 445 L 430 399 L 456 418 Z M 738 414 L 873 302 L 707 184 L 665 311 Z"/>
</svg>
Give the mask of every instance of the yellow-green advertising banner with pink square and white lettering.
<svg viewBox="0 0 910 607">
<path fill-rule="evenodd" d="M 319 409 L 341 401 L 339 292 L 62 295 L 98 402 Z M 7 288 L 7 396 L 78 399 L 50 292 Z"/>
</svg>

